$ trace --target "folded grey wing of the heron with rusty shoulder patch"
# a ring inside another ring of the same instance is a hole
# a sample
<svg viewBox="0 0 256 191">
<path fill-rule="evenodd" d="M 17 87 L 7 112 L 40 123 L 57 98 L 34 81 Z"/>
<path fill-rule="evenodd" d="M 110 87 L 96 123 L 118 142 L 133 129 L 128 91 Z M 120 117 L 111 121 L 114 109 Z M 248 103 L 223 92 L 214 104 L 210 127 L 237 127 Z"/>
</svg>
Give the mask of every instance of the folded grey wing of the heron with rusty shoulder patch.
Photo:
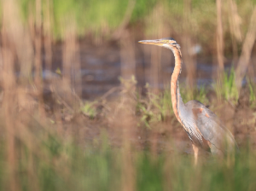
<svg viewBox="0 0 256 191">
<path fill-rule="evenodd" d="M 212 113 L 200 101 L 189 101 L 186 106 L 193 111 L 195 125 L 201 131 L 201 135 L 211 142 L 213 153 L 218 153 L 219 150 L 222 152 L 234 150 L 236 147 L 234 136 L 230 130 L 224 127 L 217 115 Z"/>
</svg>

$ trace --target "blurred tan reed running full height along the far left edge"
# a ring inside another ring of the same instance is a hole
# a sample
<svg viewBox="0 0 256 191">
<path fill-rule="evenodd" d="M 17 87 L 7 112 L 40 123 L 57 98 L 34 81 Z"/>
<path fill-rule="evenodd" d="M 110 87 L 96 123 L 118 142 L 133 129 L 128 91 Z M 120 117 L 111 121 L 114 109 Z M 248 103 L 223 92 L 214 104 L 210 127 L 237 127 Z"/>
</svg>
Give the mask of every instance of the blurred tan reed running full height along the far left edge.
<svg viewBox="0 0 256 191">
<path fill-rule="evenodd" d="M 14 108 L 15 108 L 15 56 L 13 54 L 13 49 L 11 47 L 11 40 L 15 32 L 15 26 L 9 25 L 9 21 L 13 19 L 10 17 L 11 8 L 15 5 L 13 1 L 4 1 L 3 2 L 3 27 L 2 27 L 2 55 L 3 55 L 3 71 L 2 71 L 2 83 L 3 83 L 3 119 L 6 133 L 6 156 L 9 177 L 5 187 L 9 190 L 15 191 L 19 190 L 19 181 L 16 177 L 16 168 L 17 168 L 17 156 L 16 156 L 16 140 L 15 140 L 15 118 Z M 14 7 L 15 9 L 15 7 Z M 17 18 L 15 18 L 17 19 Z"/>
</svg>

